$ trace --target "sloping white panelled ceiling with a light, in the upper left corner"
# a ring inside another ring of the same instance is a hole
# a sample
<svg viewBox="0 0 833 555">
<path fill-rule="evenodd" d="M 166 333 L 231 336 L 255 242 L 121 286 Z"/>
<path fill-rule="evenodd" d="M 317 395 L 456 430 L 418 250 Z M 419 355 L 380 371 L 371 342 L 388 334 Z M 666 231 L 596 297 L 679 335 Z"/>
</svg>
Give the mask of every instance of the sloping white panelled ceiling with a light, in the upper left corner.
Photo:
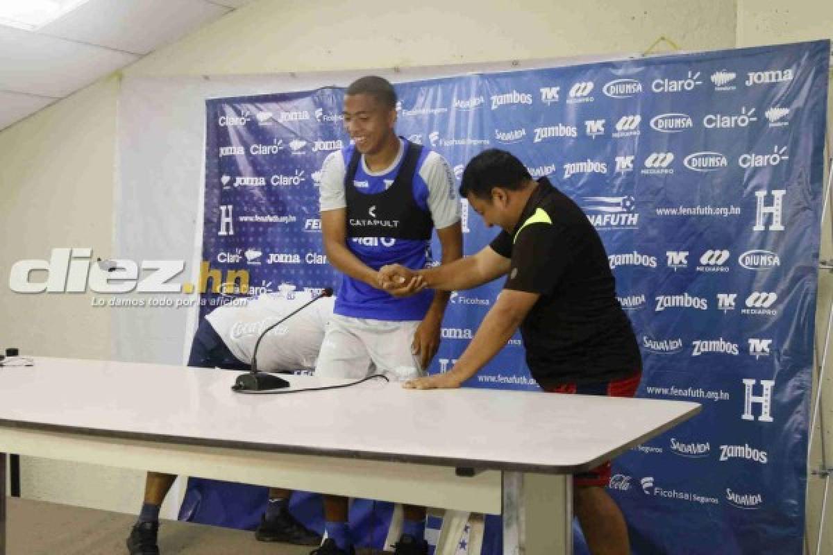
<svg viewBox="0 0 833 555">
<path fill-rule="evenodd" d="M 89 0 L 23 31 L 0 25 L 0 130 L 252 0 Z"/>
</svg>

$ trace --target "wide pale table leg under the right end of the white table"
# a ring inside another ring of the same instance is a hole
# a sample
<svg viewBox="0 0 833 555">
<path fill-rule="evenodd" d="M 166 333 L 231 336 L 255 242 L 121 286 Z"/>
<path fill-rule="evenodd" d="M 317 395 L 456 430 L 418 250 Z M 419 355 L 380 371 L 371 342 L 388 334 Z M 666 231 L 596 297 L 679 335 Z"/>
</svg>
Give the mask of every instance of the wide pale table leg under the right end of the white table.
<svg viewBox="0 0 833 555">
<path fill-rule="evenodd" d="M 503 473 L 504 555 L 572 555 L 572 476 Z"/>
</svg>

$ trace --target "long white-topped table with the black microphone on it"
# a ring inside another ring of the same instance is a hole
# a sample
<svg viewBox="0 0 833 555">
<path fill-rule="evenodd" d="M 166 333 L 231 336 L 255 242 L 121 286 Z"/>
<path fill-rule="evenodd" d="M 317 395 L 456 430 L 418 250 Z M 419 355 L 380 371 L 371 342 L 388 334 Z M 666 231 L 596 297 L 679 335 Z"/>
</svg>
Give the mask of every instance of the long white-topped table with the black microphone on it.
<svg viewBox="0 0 833 555">
<path fill-rule="evenodd" d="M 79 359 L 0 368 L 0 453 L 503 515 L 503 553 L 571 553 L 571 473 L 700 405 L 492 389 L 236 394 L 237 373 Z M 292 389 L 347 383 L 287 376 Z M 0 454 L 0 555 L 5 554 Z"/>
</svg>

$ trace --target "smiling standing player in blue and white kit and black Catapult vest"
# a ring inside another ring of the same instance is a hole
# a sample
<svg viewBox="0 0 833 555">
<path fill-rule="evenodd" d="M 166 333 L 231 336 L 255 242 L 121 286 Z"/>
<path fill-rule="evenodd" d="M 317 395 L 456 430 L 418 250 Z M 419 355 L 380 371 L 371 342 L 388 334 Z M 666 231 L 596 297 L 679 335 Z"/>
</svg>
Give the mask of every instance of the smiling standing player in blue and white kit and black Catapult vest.
<svg viewBox="0 0 833 555">
<path fill-rule="evenodd" d="M 396 93 L 382 77 L 353 82 L 344 99 L 344 124 L 353 145 L 332 153 L 322 167 L 324 247 L 343 276 L 318 376 L 360 379 L 378 372 L 414 379 L 424 374 L 439 347 L 448 293 L 393 297 L 378 274 L 387 264 L 424 268 L 435 229 L 443 263 L 462 254 L 454 173 L 436 152 L 397 136 L 396 106 Z M 327 496 L 324 508 L 327 540 L 312 553 L 353 553 L 347 498 Z M 425 514 L 425 508 L 404 507 L 395 553 L 427 553 Z"/>
</svg>

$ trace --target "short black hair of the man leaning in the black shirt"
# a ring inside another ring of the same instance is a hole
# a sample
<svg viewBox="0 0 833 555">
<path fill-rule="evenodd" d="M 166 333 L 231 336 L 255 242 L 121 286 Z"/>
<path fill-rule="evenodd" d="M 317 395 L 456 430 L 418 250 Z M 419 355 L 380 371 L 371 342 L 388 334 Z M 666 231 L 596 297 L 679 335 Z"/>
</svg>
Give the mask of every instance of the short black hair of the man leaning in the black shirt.
<svg viewBox="0 0 833 555">
<path fill-rule="evenodd" d="M 478 198 L 489 199 L 492 187 L 519 191 L 531 179 L 526 166 L 515 156 L 497 148 L 490 148 L 466 164 L 460 184 L 460 196 L 468 196 L 471 193 Z"/>
</svg>

